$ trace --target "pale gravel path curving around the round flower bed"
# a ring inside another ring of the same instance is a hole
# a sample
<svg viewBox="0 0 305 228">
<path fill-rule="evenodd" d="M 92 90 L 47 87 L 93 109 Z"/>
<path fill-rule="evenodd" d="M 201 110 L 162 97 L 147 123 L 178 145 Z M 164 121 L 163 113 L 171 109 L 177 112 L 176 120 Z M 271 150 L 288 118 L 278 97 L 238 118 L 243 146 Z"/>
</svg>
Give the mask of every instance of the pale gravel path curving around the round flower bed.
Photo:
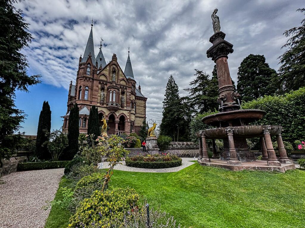
<svg viewBox="0 0 305 228">
<path fill-rule="evenodd" d="M 173 167 L 173 168 L 164 168 L 164 169 L 145 169 L 145 168 L 135 168 L 135 167 L 129 167 L 125 164 L 125 161 L 123 162 L 123 165 L 118 164 L 114 167 L 116 170 L 122 170 L 122 171 L 131 171 L 131 172 L 145 172 L 145 173 L 170 173 L 170 172 L 177 172 L 181 169 L 184 169 L 192 164 L 194 164 L 194 158 L 193 157 L 181 157 L 182 158 L 182 165 Z M 103 162 L 102 167 L 100 168 L 107 168 L 108 163 Z"/>
</svg>

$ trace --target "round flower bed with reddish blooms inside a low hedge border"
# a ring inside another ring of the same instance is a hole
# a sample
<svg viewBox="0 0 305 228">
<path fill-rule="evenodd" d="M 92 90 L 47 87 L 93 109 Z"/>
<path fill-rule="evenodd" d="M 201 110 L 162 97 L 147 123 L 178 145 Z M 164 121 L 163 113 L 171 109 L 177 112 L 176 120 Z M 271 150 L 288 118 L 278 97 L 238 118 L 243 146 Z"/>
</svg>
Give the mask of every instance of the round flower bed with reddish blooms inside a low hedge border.
<svg viewBox="0 0 305 228">
<path fill-rule="evenodd" d="M 136 168 L 161 169 L 172 168 L 182 164 L 182 159 L 176 155 L 146 155 L 127 157 L 126 165 Z"/>
</svg>

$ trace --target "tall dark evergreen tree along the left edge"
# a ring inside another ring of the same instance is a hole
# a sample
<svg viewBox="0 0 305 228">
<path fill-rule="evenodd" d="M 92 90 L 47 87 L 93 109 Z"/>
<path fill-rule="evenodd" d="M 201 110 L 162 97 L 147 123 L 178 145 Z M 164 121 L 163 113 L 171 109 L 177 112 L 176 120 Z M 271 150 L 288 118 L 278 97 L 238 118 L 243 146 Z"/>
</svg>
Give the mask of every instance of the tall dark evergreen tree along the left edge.
<svg viewBox="0 0 305 228">
<path fill-rule="evenodd" d="M 27 58 L 21 50 L 32 36 L 23 12 L 14 4 L 13 0 L 0 4 L 0 166 L 1 159 L 9 158 L 23 143 L 19 130 L 26 115 L 15 107 L 15 91 L 28 92 L 28 86 L 40 83 L 39 75 L 27 75 Z"/>
</svg>

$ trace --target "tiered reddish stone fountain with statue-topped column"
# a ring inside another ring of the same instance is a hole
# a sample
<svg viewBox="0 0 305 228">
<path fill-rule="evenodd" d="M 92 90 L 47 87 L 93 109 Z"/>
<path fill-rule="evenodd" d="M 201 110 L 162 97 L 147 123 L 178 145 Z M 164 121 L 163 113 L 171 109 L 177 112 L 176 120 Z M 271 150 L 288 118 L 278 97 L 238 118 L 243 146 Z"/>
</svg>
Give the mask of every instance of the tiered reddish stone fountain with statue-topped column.
<svg viewBox="0 0 305 228">
<path fill-rule="evenodd" d="M 217 9 L 212 14 L 214 34 L 210 37 L 213 44 L 206 54 L 216 64 L 218 77 L 219 113 L 206 116 L 202 121 L 210 128 L 197 132 L 199 138 L 199 158 L 201 165 L 217 166 L 232 170 L 258 169 L 266 171 L 282 171 L 295 169 L 295 165 L 287 157 L 282 141 L 282 126 L 274 125 L 249 125 L 261 119 L 266 112 L 258 109 L 240 110 L 239 93 L 235 92 L 232 85 L 228 54 L 233 53 L 233 45 L 224 40 L 225 33 L 220 31 Z M 278 143 L 279 159 L 276 157 L 272 146 L 271 136 L 276 136 Z M 262 160 L 256 161 L 255 155 L 249 151 L 247 138 L 260 137 Z M 213 157 L 208 157 L 206 140 L 212 140 Z M 215 139 L 224 141 L 224 150 L 217 154 Z"/>
</svg>

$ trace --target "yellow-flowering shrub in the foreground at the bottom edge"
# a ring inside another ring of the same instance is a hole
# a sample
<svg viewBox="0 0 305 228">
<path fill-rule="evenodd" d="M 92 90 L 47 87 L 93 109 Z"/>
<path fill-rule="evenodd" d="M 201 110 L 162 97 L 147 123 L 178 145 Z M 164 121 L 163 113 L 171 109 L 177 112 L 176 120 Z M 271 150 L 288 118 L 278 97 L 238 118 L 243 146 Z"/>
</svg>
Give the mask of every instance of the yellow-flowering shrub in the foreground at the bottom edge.
<svg viewBox="0 0 305 228">
<path fill-rule="evenodd" d="M 122 227 L 124 215 L 138 208 L 139 195 L 133 188 L 115 188 L 105 192 L 95 191 L 86 198 L 71 216 L 68 227 Z"/>
</svg>

